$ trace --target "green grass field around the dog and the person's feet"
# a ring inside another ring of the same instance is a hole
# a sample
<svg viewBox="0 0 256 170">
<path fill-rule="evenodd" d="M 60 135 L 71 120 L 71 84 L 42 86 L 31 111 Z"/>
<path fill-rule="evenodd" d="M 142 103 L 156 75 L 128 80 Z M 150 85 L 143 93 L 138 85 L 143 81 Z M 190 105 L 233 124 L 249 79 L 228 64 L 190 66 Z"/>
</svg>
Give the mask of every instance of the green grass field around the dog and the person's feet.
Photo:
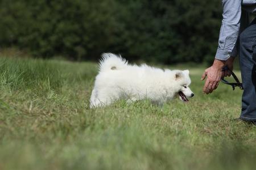
<svg viewBox="0 0 256 170">
<path fill-rule="evenodd" d="M 188 104 L 89 109 L 96 63 L 0 58 L 0 169 L 255 169 L 242 91 L 204 95 L 203 66 L 170 66 L 188 67 Z"/>
</svg>

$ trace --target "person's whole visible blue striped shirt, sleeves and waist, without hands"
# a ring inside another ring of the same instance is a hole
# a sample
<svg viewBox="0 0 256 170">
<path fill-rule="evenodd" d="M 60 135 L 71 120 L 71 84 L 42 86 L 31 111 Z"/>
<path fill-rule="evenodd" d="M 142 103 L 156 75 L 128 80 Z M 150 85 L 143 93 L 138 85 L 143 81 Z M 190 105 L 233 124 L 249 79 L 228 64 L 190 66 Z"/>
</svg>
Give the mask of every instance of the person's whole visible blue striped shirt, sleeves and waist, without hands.
<svg viewBox="0 0 256 170">
<path fill-rule="evenodd" d="M 256 0 L 222 0 L 222 24 L 215 58 L 226 61 L 237 56 L 236 41 L 240 28 L 248 23 L 248 12 L 256 11 Z M 242 12 L 242 8 L 247 12 Z"/>
</svg>

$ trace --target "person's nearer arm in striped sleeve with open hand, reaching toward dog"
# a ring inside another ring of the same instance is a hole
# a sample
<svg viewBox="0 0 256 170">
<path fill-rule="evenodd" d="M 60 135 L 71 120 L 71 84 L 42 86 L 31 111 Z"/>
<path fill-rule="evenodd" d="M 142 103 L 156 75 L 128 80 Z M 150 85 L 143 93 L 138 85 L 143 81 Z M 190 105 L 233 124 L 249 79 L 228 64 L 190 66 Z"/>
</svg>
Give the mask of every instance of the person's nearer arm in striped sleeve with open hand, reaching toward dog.
<svg viewBox="0 0 256 170">
<path fill-rule="evenodd" d="M 222 67 L 236 44 L 240 29 L 241 3 L 242 0 L 222 0 L 223 19 L 216 56 L 213 65 L 205 70 L 201 78 L 204 80 L 207 77 L 203 88 L 205 94 L 212 93 L 218 87 L 222 76 Z"/>
</svg>

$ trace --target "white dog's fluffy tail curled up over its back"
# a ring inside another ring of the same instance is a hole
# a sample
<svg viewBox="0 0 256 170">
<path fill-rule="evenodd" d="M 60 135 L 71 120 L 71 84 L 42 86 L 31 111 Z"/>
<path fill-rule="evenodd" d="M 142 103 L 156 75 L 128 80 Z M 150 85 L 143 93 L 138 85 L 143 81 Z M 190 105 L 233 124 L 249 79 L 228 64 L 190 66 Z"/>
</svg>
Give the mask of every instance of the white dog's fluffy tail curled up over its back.
<svg viewBox="0 0 256 170">
<path fill-rule="evenodd" d="M 112 53 L 103 53 L 100 60 L 100 71 L 120 70 L 127 66 L 126 59 Z"/>
</svg>

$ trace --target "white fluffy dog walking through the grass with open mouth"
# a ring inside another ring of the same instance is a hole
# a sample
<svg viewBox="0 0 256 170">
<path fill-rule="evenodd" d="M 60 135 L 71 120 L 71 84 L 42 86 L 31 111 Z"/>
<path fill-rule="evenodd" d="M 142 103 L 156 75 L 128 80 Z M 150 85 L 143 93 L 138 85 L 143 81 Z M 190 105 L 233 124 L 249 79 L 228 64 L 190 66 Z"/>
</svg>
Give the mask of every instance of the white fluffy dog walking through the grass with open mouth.
<svg viewBox="0 0 256 170">
<path fill-rule="evenodd" d="M 109 105 L 118 99 L 127 102 L 149 99 L 163 104 L 175 96 L 183 101 L 194 94 L 188 70 L 158 69 L 143 64 L 130 65 L 121 56 L 102 54 L 100 72 L 96 76 L 90 107 Z"/>
</svg>

